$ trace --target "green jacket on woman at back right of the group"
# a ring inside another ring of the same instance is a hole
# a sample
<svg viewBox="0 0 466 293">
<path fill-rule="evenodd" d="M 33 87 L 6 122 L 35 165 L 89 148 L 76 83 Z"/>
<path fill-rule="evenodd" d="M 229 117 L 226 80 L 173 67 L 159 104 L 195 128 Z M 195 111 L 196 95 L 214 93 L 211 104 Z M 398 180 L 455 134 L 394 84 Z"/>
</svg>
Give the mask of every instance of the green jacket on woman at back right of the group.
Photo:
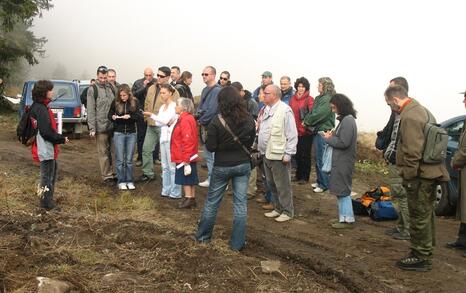
<svg viewBox="0 0 466 293">
<path fill-rule="evenodd" d="M 335 113 L 330 109 L 331 97 L 329 93 L 317 96 L 312 111 L 304 117 L 303 122 L 306 126 L 315 127 L 314 133 L 335 127 Z"/>
</svg>

